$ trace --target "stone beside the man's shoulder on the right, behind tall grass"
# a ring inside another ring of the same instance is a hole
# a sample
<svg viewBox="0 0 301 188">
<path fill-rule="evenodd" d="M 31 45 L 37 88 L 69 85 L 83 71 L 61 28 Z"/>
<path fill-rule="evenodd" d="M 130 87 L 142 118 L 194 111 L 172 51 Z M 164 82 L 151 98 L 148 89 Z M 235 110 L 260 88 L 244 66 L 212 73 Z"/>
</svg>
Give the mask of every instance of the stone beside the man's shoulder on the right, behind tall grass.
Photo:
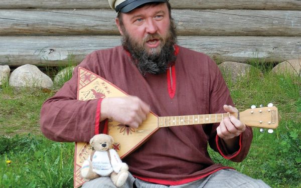
<svg viewBox="0 0 301 188">
<path fill-rule="evenodd" d="M 219 65 L 219 68 L 226 74 L 229 74 L 232 81 L 236 81 L 238 77 L 245 76 L 252 66 L 245 63 L 237 63 L 225 61 Z M 259 70 L 258 70 L 259 71 Z M 260 72 L 260 71 L 259 71 Z"/>
</svg>

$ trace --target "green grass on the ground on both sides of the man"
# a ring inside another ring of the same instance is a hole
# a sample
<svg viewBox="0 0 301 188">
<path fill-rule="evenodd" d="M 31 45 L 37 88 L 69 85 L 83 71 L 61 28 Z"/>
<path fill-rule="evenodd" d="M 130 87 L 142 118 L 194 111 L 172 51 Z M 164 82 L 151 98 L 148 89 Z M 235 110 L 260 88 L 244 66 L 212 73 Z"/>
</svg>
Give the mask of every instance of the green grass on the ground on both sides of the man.
<svg viewBox="0 0 301 188">
<path fill-rule="evenodd" d="M 253 129 L 250 152 L 243 162 L 223 159 L 210 150 L 213 160 L 233 166 L 271 187 L 301 187 L 301 77 L 275 75 L 272 65 L 256 61 L 249 74 L 225 80 L 239 110 L 272 102 L 281 121 L 273 134 Z M 67 78 L 68 79 L 68 78 Z M 66 79 L 66 80 L 67 80 Z M 73 187 L 73 143 L 53 142 L 39 130 L 40 108 L 55 90 L 0 89 L 0 187 Z M 11 161 L 11 162 L 10 162 Z"/>
</svg>

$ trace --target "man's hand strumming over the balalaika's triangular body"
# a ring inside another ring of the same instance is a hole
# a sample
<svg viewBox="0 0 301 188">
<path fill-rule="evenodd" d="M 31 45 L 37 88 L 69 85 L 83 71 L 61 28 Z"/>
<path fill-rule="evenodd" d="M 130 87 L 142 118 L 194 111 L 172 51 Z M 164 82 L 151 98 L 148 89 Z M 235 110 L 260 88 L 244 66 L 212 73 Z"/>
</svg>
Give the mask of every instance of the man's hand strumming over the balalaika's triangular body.
<svg viewBox="0 0 301 188">
<path fill-rule="evenodd" d="M 146 119 L 149 106 L 135 96 L 104 98 L 101 102 L 100 120 L 113 119 L 132 128 L 138 128 Z"/>
</svg>

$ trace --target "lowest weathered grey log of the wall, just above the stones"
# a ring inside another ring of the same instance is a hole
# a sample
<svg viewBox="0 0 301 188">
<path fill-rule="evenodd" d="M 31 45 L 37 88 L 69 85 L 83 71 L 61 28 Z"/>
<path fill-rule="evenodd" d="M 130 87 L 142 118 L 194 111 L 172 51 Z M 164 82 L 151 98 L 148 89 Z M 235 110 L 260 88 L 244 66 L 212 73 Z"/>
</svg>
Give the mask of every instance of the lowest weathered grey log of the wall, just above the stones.
<svg viewBox="0 0 301 188">
<path fill-rule="evenodd" d="M 195 37 L 180 36 L 178 44 L 203 52 L 217 61 L 245 62 L 252 58 L 280 62 L 298 58 L 301 37 Z M 0 65 L 57 66 L 70 59 L 80 63 L 98 49 L 120 45 L 118 36 L 0 37 Z"/>
</svg>

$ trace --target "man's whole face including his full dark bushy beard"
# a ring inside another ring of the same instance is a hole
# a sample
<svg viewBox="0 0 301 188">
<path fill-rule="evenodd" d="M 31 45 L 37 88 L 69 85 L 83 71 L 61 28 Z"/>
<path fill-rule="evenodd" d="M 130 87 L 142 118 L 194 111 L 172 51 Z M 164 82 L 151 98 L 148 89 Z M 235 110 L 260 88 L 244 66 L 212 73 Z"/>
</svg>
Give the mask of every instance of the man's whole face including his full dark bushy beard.
<svg viewBox="0 0 301 188">
<path fill-rule="evenodd" d="M 142 74 L 166 72 L 176 60 L 174 22 L 166 3 L 145 5 L 120 15 L 116 24 L 127 50 Z"/>
</svg>

